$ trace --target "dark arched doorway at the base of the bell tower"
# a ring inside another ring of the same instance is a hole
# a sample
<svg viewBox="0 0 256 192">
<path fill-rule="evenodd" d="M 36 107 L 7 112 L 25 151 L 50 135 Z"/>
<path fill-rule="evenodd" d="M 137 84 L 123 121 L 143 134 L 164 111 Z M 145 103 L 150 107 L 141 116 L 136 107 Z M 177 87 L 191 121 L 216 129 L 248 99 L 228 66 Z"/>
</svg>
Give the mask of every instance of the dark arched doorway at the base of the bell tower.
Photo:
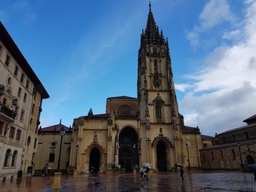
<svg viewBox="0 0 256 192">
<path fill-rule="evenodd" d="M 160 172 L 167 171 L 166 144 L 163 141 L 157 143 L 157 169 Z"/>
</svg>

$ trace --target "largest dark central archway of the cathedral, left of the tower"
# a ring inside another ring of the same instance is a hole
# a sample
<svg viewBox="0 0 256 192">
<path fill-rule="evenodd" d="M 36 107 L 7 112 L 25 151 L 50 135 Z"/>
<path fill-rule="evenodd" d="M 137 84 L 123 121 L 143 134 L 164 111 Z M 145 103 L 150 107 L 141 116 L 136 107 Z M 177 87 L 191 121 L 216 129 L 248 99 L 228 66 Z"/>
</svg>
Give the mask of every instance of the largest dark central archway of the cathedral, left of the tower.
<svg viewBox="0 0 256 192">
<path fill-rule="evenodd" d="M 126 172 L 139 165 L 138 136 L 131 127 L 124 128 L 119 135 L 119 164 Z"/>
</svg>

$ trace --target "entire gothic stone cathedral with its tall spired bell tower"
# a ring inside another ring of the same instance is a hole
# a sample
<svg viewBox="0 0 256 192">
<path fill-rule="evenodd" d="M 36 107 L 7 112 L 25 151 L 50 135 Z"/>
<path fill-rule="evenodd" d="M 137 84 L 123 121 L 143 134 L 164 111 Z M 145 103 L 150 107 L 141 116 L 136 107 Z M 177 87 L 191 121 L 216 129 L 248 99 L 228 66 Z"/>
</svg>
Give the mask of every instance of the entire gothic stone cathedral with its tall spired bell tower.
<svg viewBox="0 0 256 192">
<path fill-rule="evenodd" d="M 123 170 L 149 163 L 153 171 L 175 164 L 200 167 L 199 149 L 211 145 L 198 127 L 184 126 L 172 74 L 167 38 L 155 23 L 151 5 L 142 30 L 138 58 L 137 98 L 110 97 L 105 114 L 74 119 L 70 166 L 78 173 Z"/>
</svg>

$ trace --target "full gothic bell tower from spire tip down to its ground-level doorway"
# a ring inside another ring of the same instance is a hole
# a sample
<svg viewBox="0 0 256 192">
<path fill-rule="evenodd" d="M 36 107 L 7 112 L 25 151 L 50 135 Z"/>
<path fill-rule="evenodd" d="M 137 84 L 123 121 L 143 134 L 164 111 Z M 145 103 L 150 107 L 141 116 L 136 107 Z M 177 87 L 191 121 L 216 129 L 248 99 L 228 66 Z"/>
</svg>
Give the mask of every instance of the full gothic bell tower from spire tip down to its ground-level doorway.
<svg viewBox="0 0 256 192">
<path fill-rule="evenodd" d="M 150 162 L 158 170 L 171 169 L 181 160 L 181 143 L 178 142 L 181 115 L 178 113 L 168 40 L 158 29 L 151 4 L 147 26 L 141 34 L 137 89 L 142 151 L 147 154 L 142 155 L 142 162 Z"/>
</svg>

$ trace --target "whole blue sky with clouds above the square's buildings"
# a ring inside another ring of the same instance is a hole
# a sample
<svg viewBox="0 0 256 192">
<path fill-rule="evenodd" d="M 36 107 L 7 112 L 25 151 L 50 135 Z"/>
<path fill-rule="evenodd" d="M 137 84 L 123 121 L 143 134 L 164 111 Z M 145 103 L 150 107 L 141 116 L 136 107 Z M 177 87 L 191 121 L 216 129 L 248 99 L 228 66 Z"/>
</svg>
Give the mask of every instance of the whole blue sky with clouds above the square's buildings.
<svg viewBox="0 0 256 192">
<path fill-rule="evenodd" d="M 256 1 L 152 0 L 168 38 L 179 112 L 214 136 L 256 114 Z M 137 96 L 148 1 L 1 0 L 0 20 L 50 95 L 41 126 Z"/>
</svg>

